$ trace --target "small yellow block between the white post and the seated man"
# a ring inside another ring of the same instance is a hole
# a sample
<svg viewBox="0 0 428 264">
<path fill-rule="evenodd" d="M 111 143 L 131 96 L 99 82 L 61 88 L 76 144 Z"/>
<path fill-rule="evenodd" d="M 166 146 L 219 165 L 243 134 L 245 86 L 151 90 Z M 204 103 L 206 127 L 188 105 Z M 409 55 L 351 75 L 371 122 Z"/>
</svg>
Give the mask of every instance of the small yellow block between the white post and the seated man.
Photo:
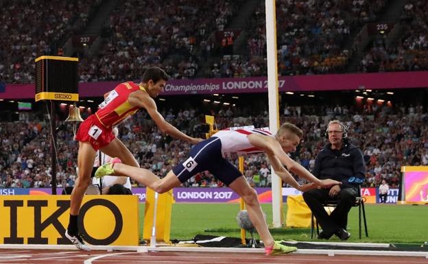
<svg viewBox="0 0 428 264">
<path fill-rule="evenodd" d="M 286 226 L 307 228 L 311 226 L 311 209 L 303 200 L 302 195 L 290 195 L 287 197 Z"/>
</svg>

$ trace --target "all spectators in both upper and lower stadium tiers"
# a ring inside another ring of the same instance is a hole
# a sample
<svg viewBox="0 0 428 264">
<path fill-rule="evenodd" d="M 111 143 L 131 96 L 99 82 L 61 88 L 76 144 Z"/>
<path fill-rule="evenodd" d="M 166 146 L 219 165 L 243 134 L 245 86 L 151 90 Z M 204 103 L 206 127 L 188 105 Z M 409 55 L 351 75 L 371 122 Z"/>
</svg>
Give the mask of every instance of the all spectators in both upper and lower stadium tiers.
<svg viewBox="0 0 428 264">
<path fill-rule="evenodd" d="M 204 76 L 266 75 L 264 1 L 247 21 L 248 56 L 219 56 L 213 33 L 239 15 L 245 1 L 124 1 L 109 15 L 101 34 L 104 43 L 94 57 L 80 58 L 80 80 L 138 80 L 146 65 L 156 64 L 173 78 L 196 77 L 202 60 L 212 61 Z M 278 73 L 281 75 L 342 73 L 353 53 L 353 33 L 374 21 L 390 1 L 278 1 Z M 0 1 L 0 82 L 34 82 L 34 58 L 57 54 L 65 41 L 78 35 L 95 16 L 102 1 L 66 3 L 48 0 Z M 36 11 L 37 10 L 37 11 Z M 428 69 L 428 3 L 407 0 L 402 12 L 403 36 L 388 45 L 378 34 L 361 58 L 359 71 L 418 71 Z M 150 16 L 147 16 L 150 14 Z M 25 25 L 32 25 L 31 27 Z M 164 109 L 165 118 L 187 133 L 200 135 L 202 112 Z M 386 119 L 388 115 L 388 119 Z M 224 108 L 215 113 L 219 128 L 267 126 L 268 114 L 250 108 Z M 196 118 L 195 118 L 196 117 Z M 366 185 L 382 178 L 399 184 L 402 165 L 428 165 L 427 109 L 422 106 L 367 106 L 361 112 L 347 106 L 285 106 L 281 121 L 306 132 L 292 156 L 311 169 L 324 142 L 325 125 L 338 117 L 350 125 L 350 141 L 364 152 Z M 29 120 L 37 120 L 29 119 Z M 376 122 L 376 123 L 375 123 Z M 73 186 L 77 143 L 71 129 L 58 132 L 58 182 Z M 140 112 L 120 127 L 120 138 L 141 167 L 164 176 L 189 145 L 160 134 Z M 0 187 L 49 187 L 51 178 L 49 125 L 45 121 L 0 123 Z M 237 162 L 236 160 L 234 161 Z M 254 186 L 269 186 L 270 170 L 263 156 L 246 159 L 246 177 Z M 209 173 L 199 173 L 189 186 L 219 185 Z"/>
</svg>

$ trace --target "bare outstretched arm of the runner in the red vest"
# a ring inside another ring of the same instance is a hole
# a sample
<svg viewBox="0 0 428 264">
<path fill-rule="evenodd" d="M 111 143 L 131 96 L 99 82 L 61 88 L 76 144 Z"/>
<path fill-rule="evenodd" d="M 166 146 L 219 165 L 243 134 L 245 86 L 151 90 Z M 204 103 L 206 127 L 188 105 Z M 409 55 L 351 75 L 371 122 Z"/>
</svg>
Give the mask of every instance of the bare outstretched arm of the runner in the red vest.
<svg viewBox="0 0 428 264">
<path fill-rule="evenodd" d="M 154 123 L 158 126 L 161 132 L 165 134 L 169 134 L 170 136 L 181 139 L 183 141 L 187 141 L 192 144 L 197 144 L 202 141 L 202 139 L 195 139 L 191 136 L 187 136 L 187 134 L 178 130 L 174 125 L 171 125 L 162 115 L 158 112 L 158 108 L 154 102 L 154 99 L 148 95 L 144 95 L 143 92 L 134 92 L 130 97 L 128 97 L 128 101 L 132 106 L 139 106 L 141 108 L 145 108 L 149 113 L 150 117 L 152 117 Z"/>
</svg>

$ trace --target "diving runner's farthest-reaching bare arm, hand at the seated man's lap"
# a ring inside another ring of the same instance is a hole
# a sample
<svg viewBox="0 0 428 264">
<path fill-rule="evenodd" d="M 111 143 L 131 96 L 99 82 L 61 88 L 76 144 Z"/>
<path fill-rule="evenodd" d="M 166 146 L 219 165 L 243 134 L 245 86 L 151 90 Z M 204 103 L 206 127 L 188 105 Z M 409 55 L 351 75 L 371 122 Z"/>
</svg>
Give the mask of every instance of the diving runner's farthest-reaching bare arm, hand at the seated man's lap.
<svg viewBox="0 0 428 264">
<path fill-rule="evenodd" d="M 279 144 L 278 141 L 273 139 L 271 136 L 265 136 L 261 134 L 250 134 L 248 135 L 248 140 L 251 145 L 254 147 L 258 147 L 263 150 L 268 156 L 276 156 L 281 164 L 285 165 L 289 171 L 296 173 L 299 177 L 305 178 L 309 180 L 309 182 L 313 182 L 322 187 L 330 187 L 331 185 L 341 184 L 341 182 L 337 182 L 336 180 L 320 180 L 312 175 L 305 167 L 296 163 L 296 161 L 292 160 L 287 153 L 284 152 L 283 148 Z"/>
</svg>

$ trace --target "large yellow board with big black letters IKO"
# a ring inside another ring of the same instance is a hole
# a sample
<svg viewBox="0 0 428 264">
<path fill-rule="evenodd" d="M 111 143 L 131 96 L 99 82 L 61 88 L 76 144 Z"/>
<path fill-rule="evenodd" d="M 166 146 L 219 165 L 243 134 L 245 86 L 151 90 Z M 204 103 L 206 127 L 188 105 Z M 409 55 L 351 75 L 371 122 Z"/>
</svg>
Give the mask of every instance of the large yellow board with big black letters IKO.
<svg viewBox="0 0 428 264">
<path fill-rule="evenodd" d="M 0 244 L 70 244 L 70 195 L 0 195 Z M 78 224 L 92 245 L 139 245 L 135 195 L 85 195 Z"/>
</svg>

